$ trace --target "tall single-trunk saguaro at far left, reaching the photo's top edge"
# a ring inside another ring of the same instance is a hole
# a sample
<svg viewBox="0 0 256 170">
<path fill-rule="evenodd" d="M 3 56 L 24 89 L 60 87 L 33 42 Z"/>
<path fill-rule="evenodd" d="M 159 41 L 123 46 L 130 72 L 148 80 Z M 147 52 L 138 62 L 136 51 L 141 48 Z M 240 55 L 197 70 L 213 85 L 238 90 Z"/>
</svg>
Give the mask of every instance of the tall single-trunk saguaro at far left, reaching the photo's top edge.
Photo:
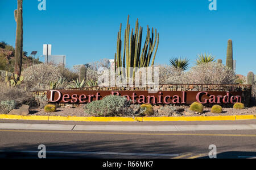
<svg viewBox="0 0 256 170">
<path fill-rule="evenodd" d="M 14 11 L 16 21 L 16 42 L 15 42 L 15 67 L 14 73 L 20 76 L 22 70 L 22 55 L 23 55 L 23 21 L 22 21 L 22 1 L 18 0 L 18 7 Z"/>
</svg>

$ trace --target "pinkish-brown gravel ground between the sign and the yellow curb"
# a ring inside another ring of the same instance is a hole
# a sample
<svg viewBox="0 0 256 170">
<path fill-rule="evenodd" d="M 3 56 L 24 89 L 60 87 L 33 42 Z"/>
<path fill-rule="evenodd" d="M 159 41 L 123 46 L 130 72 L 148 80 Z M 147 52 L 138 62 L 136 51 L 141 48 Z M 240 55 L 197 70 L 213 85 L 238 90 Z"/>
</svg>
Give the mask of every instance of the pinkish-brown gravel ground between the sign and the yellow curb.
<svg viewBox="0 0 256 170">
<path fill-rule="evenodd" d="M 223 108 L 223 113 L 221 114 L 214 114 L 210 112 L 210 107 L 204 108 L 204 113 L 194 113 L 192 111 L 189 111 L 188 106 L 179 106 L 179 108 L 183 108 L 180 111 L 175 111 L 174 114 L 159 114 L 158 112 L 155 112 L 154 115 L 151 115 L 151 117 L 164 117 L 164 116 L 217 116 L 217 115 L 247 115 L 247 114 L 256 114 L 256 106 L 254 107 L 246 107 L 242 110 L 236 110 L 233 108 Z M 158 106 L 159 108 L 159 106 Z M 158 110 L 158 108 L 154 110 Z M 184 110 L 184 111 L 183 111 Z M 92 115 L 85 113 L 84 109 L 81 107 L 78 108 L 57 108 L 57 111 L 55 113 L 46 113 L 43 109 L 39 108 L 31 108 L 30 109 L 30 115 L 54 115 L 54 116 L 76 116 L 76 117 L 92 117 Z M 134 115 L 138 116 L 138 115 Z"/>
</svg>

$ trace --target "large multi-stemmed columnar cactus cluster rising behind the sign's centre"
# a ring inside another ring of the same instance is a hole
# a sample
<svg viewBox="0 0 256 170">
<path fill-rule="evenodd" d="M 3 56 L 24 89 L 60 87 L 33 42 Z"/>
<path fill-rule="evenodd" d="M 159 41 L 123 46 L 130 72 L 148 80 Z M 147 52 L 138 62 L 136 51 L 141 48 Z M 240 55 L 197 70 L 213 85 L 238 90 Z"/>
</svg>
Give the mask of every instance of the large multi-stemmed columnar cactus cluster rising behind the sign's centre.
<svg viewBox="0 0 256 170">
<path fill-rule="evenodd" d="M 148 67 L 151 62 L 151 66 L 154 65 L 156 51 L 158 50 L 159 34 L 154 35 L 154 28 L 150 31 L 147 26 L 147 35 L 142 48 L 142 27 L 139 27 L 138 19 L 135 24 L 135 30 L 131 30 L 129 15 L 127 18 L 127 24 L 125 29 L 123 52 L 122 52 L 122 40 L 121 40 L 122 23 L 120 24 L 119 32 L 117 35 L 117 52 L 115 53 L 115 68 L 118 73 L 121 73 L 120 67 L 126 68 L 126 76 L 134 77 L 134 72 L 129 71 L 129 68 L 141 68 Z M 151 37 L 150 37 L 151 35 Z M 154 48 L 155 52 L 154 52 Z M 152 57 L 154 52 L 154 56 Z"/>
</svg>

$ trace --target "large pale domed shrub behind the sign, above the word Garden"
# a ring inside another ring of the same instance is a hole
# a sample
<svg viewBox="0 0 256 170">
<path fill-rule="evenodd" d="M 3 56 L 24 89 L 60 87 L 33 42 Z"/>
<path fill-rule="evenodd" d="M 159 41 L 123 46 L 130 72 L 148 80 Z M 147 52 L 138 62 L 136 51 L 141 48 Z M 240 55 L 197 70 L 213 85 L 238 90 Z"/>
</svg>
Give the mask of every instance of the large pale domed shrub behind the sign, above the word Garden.
<svg viewBox="0 0 256 170">
<path fill-rule="evenodd" d="M 205 63 L 192 67 L 186 73 L 189 84 L 234 84 L 234 71 L 220 63 Z"/>
</svg>

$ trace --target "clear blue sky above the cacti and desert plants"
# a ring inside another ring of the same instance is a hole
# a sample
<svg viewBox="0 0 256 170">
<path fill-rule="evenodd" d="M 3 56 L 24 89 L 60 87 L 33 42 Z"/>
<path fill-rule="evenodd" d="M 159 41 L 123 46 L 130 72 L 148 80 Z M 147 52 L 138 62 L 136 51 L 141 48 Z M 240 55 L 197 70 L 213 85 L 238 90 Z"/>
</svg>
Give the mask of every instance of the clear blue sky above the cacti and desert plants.
<svg viewBox="0 0 256 170">
<path fill-rule="evenodd" d="M 233 40 L 237 73 L 256 73 L 256 1 L 217 0 L 210 11 L 208 0 L 168 1 L 23 1 L 23 51 L 38 51 L 52 44 L 52 55 L 67 55 L 67 67 L 108 58 L 116 50 L 119 24 L 131 27 L 138 18 L 143 28 L 159 32 L 155 63 L 168 64 L 174 56 L 187 57 L 191 67 L 197 54 L 212 53 L 225 64 L 228 39 Z M 0 41 L 15 45 L 16 1 L 0 1 Z M 146 32 L 143 32 L 145 35 Z M 123 39 L 123 35 L 122 35 Z M 43 61 L 43 57 L 40 58 Z"/>
</svg>

